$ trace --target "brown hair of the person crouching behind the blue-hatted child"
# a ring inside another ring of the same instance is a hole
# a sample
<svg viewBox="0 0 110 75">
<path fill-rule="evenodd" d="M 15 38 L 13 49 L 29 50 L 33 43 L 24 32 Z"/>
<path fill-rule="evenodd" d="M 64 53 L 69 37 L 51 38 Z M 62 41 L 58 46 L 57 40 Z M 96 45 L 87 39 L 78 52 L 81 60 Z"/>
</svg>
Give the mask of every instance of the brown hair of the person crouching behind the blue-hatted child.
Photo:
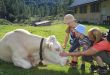
<svg viewBox="0 0 110 75">
<path fill-rule="evenodd" d="M 99 28 L 91 28 L 88 31 L 88 37 L 95 43 L 100 42 L 102 40 L 102 33 Z"/>
</svg>

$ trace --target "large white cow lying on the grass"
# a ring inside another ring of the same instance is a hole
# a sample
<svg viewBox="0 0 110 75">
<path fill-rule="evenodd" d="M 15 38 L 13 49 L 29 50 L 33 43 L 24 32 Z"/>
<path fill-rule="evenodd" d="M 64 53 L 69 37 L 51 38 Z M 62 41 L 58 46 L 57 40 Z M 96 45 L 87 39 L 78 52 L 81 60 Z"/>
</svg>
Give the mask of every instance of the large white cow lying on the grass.
<svg viewBox="0 0 110 75">
<path fill-rule="evenodd" d="M 6 33 L 0 40 L 0 59 L 13 62 L 15 66 L 29 69 L 39 64 L 41 36 L 31 34 L 24 29 Z M 42 63 L 65 65 L 67 57 L 61 57 L 63 51 L 55 36 L 44 38 L 42 44 Z"/>
</svg>

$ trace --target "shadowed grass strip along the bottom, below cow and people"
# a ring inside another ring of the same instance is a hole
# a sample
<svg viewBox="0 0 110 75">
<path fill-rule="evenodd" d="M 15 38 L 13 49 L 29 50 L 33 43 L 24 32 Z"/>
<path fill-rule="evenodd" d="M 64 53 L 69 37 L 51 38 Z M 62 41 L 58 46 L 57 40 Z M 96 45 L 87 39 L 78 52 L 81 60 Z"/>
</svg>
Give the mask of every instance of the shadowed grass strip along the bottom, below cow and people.
<svg viewBox="0 0 110 75">
<path fill-rule="evenodd" d="M 65 72 L 63 68 L 62 70 L 54 70 L 48 69 L 48 67 L 34 67 L 31 69 L 22 69 L 14 66 L 12 63 L 0 62 L 0 75 L 99 75 L 99 74 L 87 73 L 85 71 L 80 71 L 77 68 L 69 68 L 68 72 Z M 105 75 L 110 75 L 110 72 L 108 72 Z"/>
</svg>

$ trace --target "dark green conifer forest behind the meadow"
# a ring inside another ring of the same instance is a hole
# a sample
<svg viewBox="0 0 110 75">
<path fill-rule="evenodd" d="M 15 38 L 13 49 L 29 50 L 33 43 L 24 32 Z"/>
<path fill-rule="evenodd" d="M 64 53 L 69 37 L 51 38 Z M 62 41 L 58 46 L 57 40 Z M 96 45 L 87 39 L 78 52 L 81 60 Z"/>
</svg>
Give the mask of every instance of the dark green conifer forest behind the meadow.
<svg viewBox="0 0 110 75">
<path fill-rule="evenodd" d="M 0 19 L 25 22 L 30 18 L 62 16 L 73 0 L 0 0 Z"/>
</svg>

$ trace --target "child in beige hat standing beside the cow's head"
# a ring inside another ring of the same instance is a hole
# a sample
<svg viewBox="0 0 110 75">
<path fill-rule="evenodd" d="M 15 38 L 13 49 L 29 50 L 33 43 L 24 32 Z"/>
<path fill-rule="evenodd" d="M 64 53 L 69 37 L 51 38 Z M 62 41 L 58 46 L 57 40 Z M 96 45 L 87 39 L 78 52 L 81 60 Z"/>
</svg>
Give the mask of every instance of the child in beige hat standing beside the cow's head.
<svg viewBox="0 0 110 75">
<path fill-rule="evenodd" d="M 66 29 L 66 36 L 64 39 L 64 43 L 63 43 L 63 48 L 66 48 L 67 41 L 70 37 L 70 50 L 69 50 L 69 52 L 77 51 L 78 46 L 79 46 L 79 42 L 78 42 L 78 39 L 76 38 L 75 32 L 73 30 L 77 25 L 81 25 L 81 24 L 78 24 L 76 22 L 76 19 L 74 18 L 74 16 L 71 14 L 65 15 L 64 23 L 67 24 L 67 29 Z M 71 61 L 70 65 L 72 67 L 76 67 L 77 58 L 75 56 L 72 57 L 72 61 Z"/>
</svg>

